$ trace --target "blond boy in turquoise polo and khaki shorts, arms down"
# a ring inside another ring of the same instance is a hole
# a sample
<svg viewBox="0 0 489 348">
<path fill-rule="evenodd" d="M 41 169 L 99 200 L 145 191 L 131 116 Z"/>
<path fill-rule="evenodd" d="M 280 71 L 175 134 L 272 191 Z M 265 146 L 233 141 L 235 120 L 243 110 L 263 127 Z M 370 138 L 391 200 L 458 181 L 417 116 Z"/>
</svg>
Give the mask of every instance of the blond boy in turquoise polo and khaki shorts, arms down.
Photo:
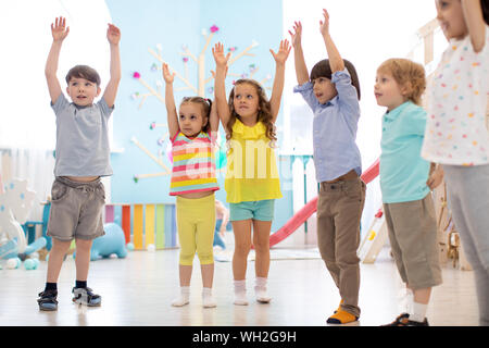
<svg viewBox="0 0 489 348">
<path fill-rule="evenodd" d="M 390 59 L 377 70 L 375 97 L 383 117 L 380 189 L 391 251 L 413 293 L 408 312 L 386 326 L 428 326 L 431 288 L 441 284 L 437 223 L 430 190 L 443 173 L 421 157 L 426 112 L 419 107 L 425 70 L 408 59 Z M 432 173 L 430 173 L 432 172 Z"/>
</svg>

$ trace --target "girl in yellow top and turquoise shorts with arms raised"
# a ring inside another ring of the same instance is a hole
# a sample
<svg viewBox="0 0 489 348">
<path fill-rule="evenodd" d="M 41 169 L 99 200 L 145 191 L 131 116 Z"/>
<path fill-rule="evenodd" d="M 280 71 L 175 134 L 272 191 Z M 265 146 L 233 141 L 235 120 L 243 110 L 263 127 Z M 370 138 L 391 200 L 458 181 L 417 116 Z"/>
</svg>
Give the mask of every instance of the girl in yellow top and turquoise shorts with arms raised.
<svg viewBox="0 0 489 348">
<path fill-rule="evenodd" d="M 280 181 L 274 153 L 275 121 L 284 90 L 285 63 L 290 52 L 284 40 L 277 53 L 269 50 L 276 72 L 269 101 L 260 84 L 253 79 L 235 83 L 229 102 L 226 100 L 225 78 L 230 53 L 224 47 L 212 49 L 216 63 L 215 103 L 229 145 L 225 189 L 230 221 L 235 233 L 233 275 L 235 304 L 246 306 L 247 259 L 251 249 L 251 226 L 255 249 L 255 294 L 259 302 L 271 301 L 266 293 L 269 269 L 269 232 L 275 199 L 281 198 Z"/>
</svg>

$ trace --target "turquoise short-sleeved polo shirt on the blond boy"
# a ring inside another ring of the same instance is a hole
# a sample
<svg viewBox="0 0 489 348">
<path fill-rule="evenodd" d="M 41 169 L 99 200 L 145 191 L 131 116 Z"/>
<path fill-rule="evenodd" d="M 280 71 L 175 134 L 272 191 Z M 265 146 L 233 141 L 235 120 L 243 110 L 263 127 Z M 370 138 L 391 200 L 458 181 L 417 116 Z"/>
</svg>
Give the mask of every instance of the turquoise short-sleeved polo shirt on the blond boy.
<svg viewBox="0 0 489 348">
<path fill-rule="evenodd" d="M 429 194 L 429 162 L 421 157 L 426 112 L 406 101 L 383 116 L 380 190 L 385 203 L 419 200 Z"/>
</svg>

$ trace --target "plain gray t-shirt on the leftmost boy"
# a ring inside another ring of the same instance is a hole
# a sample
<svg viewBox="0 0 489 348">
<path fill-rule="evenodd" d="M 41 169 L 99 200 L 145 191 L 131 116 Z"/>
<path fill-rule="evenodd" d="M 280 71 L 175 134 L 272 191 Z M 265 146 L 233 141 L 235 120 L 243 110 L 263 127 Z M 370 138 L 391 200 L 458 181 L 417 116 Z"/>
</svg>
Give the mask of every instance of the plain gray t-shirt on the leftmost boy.
<svg viewBox="0 0 489 348">
<path fill-rule="evenodd" d="M 63 94 L 51 107 L 57 115 L 54 175 L 112 175 L 108 122 L 114 108 L 103 98 L 90 107 L 77 107 Z"/>
</svg>

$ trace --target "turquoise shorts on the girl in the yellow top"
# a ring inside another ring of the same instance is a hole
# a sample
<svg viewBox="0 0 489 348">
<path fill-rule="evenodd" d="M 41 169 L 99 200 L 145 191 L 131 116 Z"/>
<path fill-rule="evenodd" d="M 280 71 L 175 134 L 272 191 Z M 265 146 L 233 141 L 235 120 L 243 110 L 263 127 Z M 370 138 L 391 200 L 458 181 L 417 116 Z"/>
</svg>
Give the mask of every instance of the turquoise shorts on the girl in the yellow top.
<svg viewBox="0 0 489 348">
<path fill-rule="evenodd" d="M 229 220 L 274 220 L 275 199 L 229 203 Z"/>
</svg>

